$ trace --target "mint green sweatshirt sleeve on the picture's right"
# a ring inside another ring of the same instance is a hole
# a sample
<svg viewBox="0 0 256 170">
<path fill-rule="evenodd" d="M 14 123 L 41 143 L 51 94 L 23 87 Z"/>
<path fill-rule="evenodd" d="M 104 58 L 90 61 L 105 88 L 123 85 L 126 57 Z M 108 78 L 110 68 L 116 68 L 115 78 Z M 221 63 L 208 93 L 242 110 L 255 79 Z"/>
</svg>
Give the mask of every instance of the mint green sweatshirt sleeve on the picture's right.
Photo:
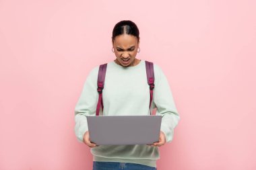
<svg viewBox="0 0 256 170">
<path fill-rule="evenodd" d="M 180 116 L 172 97 L 172 91 L 166 76 L 158 65 L 154 65 L 157 71 L 155 75 L 155 87 L 153 101 L 156 106 L 156 115 L 162 116 L 161 129 L 166 136 L 166 142 L 171 142 L 174 135 L 174 128 L 177 126 Z M 153 106 L 154 107 L 154 106 Z"/>
</svg>

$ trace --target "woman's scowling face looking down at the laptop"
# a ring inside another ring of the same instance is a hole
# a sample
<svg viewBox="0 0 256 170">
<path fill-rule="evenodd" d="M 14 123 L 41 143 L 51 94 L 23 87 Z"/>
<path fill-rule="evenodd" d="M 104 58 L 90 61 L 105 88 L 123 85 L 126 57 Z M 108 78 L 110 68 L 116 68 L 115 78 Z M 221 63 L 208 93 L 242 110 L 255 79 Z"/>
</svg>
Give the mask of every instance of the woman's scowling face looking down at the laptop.
<svg viewBox="0 0 256 170">
<path fill-rule="evenodd" d="M 113 48 L 117 57 L 117 62 L 122 66 L 133 66 L 139 42 L 137 37 L 129 34 L 122 34 L 115 37 Z"/>
</svg>

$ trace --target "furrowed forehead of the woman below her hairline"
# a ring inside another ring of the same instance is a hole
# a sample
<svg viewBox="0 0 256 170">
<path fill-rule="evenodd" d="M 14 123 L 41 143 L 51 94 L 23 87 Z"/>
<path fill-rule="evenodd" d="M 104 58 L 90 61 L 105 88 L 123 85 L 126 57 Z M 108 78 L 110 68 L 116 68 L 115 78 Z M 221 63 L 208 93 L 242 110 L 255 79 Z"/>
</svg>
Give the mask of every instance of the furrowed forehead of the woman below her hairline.
<svg viewBox="0 0 256 170">
<path fill-rule="evenodd" d="M 137 37 L 129 34 L 123 34 L 115 37 L 114 44 L 116 46 L 128 48 L 137 44 Z"/>
</svg>

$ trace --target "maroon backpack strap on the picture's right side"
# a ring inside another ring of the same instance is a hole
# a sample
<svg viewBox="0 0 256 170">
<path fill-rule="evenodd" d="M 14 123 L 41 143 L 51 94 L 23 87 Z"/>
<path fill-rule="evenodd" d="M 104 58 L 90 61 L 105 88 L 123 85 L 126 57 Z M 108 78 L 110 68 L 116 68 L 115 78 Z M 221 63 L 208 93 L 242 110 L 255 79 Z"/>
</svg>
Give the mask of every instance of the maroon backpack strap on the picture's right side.
<svg viewBox="0 0 256 170">
<path fill-rule="evenodd" d="M 148 79 L 148 85 L 150 85 L 150 114 L 152 114 L 152 101 L 153 101 L 153 89 L 155 87 L 154 81 L 154 64 L 153 62 L 145 61 L 146 62 L 146 72 L 147 72 L 147 79 Z"/>
</svg>

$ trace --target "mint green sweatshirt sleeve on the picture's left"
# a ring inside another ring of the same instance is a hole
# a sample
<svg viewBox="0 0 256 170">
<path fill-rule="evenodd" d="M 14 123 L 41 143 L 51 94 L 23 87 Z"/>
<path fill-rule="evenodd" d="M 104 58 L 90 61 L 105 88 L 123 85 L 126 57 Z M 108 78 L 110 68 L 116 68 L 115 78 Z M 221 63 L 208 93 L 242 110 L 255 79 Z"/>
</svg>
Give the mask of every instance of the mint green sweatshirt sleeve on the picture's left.
<svg viewBox="0 0 256 170">
<path fill-rule="evenodd" d="M 96 114 L 98 102 L 97 91 L 98 67 L 90 71 L 82 89 L 82 93 L 75 105 L 75 136 L 79 142 L 83 142 L 84 134 L 88 131 L 86 116 Z"/>
</svg>

